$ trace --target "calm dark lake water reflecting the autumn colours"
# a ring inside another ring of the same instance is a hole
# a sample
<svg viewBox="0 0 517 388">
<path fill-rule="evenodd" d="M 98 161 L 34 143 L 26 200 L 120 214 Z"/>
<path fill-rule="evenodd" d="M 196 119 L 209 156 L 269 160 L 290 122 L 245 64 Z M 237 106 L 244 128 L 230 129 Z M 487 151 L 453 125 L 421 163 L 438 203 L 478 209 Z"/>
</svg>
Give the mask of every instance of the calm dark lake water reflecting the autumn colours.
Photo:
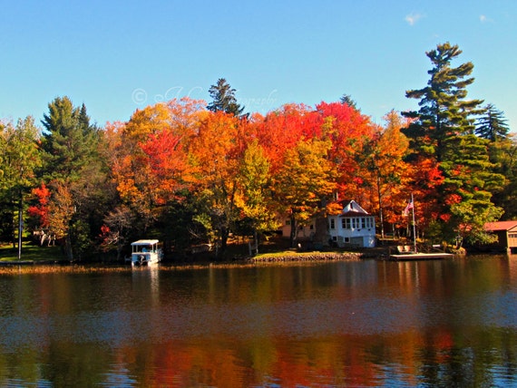
<svg viewBox="0 0 517 388">
<path fill-rule="evenodd" d="M 517 386 L 517 257 L 0 275 L 1 386 Z"/>
</svg>

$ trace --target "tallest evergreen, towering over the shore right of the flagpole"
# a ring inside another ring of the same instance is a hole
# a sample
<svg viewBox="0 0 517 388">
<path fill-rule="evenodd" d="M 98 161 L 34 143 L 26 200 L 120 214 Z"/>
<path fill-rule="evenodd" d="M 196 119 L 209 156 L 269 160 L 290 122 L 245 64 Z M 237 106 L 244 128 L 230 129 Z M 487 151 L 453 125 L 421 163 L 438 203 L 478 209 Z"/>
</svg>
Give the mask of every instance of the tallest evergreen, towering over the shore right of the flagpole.
<svg viewBox="0 0 517 388">
<path fill-rule="evenodd" d="M 502 186 L 503 178 L 493 172 L 486 142 L 473 135 L 474 117 L 483 112 L 483 101 L 466 99 L 466 87 L 474 80 L 473 63 L 451 65 L 461 53 L 449 43 L 426 53 L 434 65 L 427 72 L 431 78 L 423 89 L 406 92 L 406 97 L 420 100 L 420 109 L 405 112 L 415 119 L 405 134 L 414 157 L 434 159 L 444 175 L 442 210 L 436 219 L 441 238 L 476 242 L 486 240 L 483 224 L 501 217 L 502 209 L 491 202 L 491 191 Z"/>
</svg>

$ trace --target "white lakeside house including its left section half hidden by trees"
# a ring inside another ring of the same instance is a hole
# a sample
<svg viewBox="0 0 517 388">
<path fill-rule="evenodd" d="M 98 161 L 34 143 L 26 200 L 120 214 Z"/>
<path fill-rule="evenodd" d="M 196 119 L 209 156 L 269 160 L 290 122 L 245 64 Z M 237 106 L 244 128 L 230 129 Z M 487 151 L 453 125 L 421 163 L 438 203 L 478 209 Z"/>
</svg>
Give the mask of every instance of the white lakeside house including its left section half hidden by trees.
<svg viewBox="0 0 517 388">
<path fill-rule="evenodd" d="M 316 235 L 325 238 L 325 243 L 331 241 L 338 247 L 375 247 L 376 246 L 376 218 L 361 208 L 355 200 L 339 201 L 343 211 L 336 216 L 327 217 L 327 233 L 317 230 L 322 224 L 311 220 L 307 225 L 298 228 L 297 238 L 300 240 L 314 240 Z M 325 228 L 325 223 L 323 223 Z M 285 219 L 282 236 L 288 238 L 291 226 L 289 219 Z M 320 238 L 317 238 L 318 240 Z M 323 241 L 320 241 L 323 242 Z"/>
</svg>

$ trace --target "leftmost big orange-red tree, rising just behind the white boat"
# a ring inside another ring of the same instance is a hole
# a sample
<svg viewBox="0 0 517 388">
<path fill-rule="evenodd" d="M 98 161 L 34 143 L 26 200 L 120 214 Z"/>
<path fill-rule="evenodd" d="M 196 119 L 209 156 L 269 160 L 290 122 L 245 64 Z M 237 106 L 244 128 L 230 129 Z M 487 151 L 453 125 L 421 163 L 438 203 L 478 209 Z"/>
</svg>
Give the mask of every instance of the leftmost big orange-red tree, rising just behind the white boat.
<svg viewBox="0 0 517 388">
<path fill-rule="evenodd" d="M 202 102 L 187 98 L 137 110 L 130 121 L 107 132 L 112 177 L 122 202 L 141 220 L 143 231 L 161 206 L 178 199 L 185 188 L 184 142 L 197 131 Z"/>
</svg>

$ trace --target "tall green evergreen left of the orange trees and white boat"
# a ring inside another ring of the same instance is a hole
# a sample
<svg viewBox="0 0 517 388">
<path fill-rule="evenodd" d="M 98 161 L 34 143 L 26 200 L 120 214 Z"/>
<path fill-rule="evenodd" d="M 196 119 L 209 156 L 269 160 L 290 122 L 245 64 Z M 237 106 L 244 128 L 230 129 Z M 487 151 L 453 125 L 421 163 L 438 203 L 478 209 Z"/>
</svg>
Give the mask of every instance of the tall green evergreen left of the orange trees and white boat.
<svg viewBox="0 0 517 388">
<path fill-rule="evenodd" d="M 89 239 L 99 233 L 95 227 L 100 228 L 103 218 L 99 209 L 106 166 L 98 150 L 99 131 L 90 123 L 84 104 L 74 107 L 68 97 L 57 97 L 48 108 L 42 121 L 41 177 L 53 192 L 49 228 L 65 240 L 65 251 L 72 260 L 81 258 Z"/>
</svg>

